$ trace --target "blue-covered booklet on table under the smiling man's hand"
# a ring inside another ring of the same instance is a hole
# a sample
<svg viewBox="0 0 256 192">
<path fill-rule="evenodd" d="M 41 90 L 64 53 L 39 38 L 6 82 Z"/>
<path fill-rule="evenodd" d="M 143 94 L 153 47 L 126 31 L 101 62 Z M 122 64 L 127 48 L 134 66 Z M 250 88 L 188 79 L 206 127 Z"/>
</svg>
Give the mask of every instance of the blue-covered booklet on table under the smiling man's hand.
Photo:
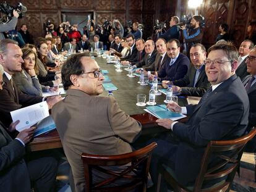
<svg viewBox="0 0 256 192">
<path fill-rule="evenodd" d="M 156 106 L 148 106 L 146 109 L 149 114 L 154 115 L 158 119 L 171 119 L 171 120 L 178 120 L 186 117 L 186 115 L 179 114 L 176 112 L 169 111 L 166 108 L 166 105 L 156 105 Z"/>
</svg>

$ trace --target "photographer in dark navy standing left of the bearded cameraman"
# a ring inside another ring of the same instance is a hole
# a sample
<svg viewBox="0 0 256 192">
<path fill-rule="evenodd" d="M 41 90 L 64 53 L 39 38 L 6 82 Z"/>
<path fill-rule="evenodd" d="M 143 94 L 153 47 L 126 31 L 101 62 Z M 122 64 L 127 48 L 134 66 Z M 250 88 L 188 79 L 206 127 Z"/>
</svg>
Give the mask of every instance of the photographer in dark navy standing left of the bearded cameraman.
<svg viewBox="0 0 256 192">
<path fill-rule="evenodd" d="M 158 34 L 158 38 L 163 38 L 168 42 L 171 39 L 179 40 L 179 28 L 177 27 L 177 23 L 179 23 L 179 17 L 173 16 L 170 20 L 170 28 L 165 32 L 162 33 L 162 28 L 160 29 L 160 32 Z"/>
</svg>

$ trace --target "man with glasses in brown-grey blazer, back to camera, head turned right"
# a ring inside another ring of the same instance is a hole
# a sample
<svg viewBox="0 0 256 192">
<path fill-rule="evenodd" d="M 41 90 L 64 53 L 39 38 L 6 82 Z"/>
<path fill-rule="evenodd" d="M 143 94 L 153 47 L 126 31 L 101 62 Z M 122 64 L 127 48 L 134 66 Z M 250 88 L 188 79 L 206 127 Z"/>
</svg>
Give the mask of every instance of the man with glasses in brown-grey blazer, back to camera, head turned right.
<svg viewBox="0 0 256 192">
<path fill-rule="evenodd" d="M 103 93 L 104 77 L 88 54 L 69 57 L 61 75 L 67 96 L 54 106 L 53 119 L 71 166 L 75 191 L 85 191 L 82 152 L 98 155 L 132 152 L 129 143 L 139 136 L 141 125 L 119 109 L 116 99 L 98 96 Z M 104 178 L 104 175 L 93 175 L 93 182 Z"/>
</svg>

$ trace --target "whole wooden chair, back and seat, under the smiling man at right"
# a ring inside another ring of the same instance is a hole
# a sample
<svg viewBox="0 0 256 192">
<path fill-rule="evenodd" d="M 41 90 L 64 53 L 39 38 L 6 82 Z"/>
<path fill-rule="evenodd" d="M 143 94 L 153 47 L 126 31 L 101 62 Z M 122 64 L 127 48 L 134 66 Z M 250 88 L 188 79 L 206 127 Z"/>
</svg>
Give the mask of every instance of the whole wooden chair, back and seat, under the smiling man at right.
<svg viewBox="0 0 256 192">
<path fill-rule="evenodd" d="M 166 165 L 160 165 L 157 191 L 160 190 L 161 177 L 171 185 L 174 191 L 229 191 L 239 167 L 244 146 L 255 134 L 256 128 L 254 127 L 249 134 L 235 140 L 210 141 L 205 149 L 200 172 L 194 186 L 182 186 L 177 182 L 173 170 Z M 229 155 L 225 155 L 227 153 Z M 208 164 L 212 155 L 218 157 L 221 161 L 209 168 Z M 230 166 L 225 167 L 227 164 L 230 164 Z M 222 177 L 226 177 L 226 179 L 207 188 L 203 186 L 205 181 L 209 182 Z"/>
</svg>

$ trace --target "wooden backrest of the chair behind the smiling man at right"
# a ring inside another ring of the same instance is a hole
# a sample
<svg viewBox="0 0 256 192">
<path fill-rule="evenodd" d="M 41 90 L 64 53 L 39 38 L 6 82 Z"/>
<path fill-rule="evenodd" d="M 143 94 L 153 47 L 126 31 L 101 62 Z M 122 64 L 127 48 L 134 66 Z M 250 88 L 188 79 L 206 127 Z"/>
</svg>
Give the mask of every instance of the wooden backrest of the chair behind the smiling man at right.
<svg viewBox="0 0 256 192">
<path fill-rule="evenodd" d="M 226 177 L 224 182 L 220 182 L 220 185 L 211 186 L 206 191 L 229 191 L 236 175 L 236 170 L 239 167 L 244 146 L 255 134 L 256 127 L 252 128 L 247 135 L 235 140 L 210 141 L 205 149 L 201 169 L 193 191 L 201 191 L 203 182 L 210 182 L 210 180 L 222 177 Z M 208 167 L 213 157 L 217 160 L 217 163 L 212 167 Z"/>
</svg>

